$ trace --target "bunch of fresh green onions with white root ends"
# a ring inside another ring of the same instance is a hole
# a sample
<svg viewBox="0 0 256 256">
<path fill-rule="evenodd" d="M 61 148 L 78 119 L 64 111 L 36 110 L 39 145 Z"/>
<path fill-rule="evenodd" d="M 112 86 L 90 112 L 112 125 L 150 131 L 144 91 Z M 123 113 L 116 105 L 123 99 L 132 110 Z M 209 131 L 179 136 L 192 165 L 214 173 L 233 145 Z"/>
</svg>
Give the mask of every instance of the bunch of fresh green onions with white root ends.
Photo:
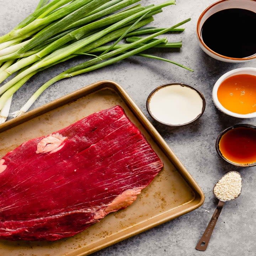
<svg viewBox="0 0 256 256">
<path fill-rule="evenodd" d="M 156 38 L 182 32 L 182 21 L 169 28 L 144 27 L 169 0 L 142 6 L 139 0 L 40 0 L 34 12 L 9 33 L 0 36 L 0 123 L 10 111 L 12 96 L 33 75 L 81 55 L 89 60 L 74 66 L 43 84 L 12 116 L 28 111 L 50 85 L 64 78 L 87 73 L 137 55 L 166 61 L 193 71 L 174 61 L 143 53 L 150 48 L 180 48 L 182 42 Z M 141 37 L 145 35 L 144 37 Z M 119 43 L 125 39 L 125 43 Z"/>
</svg>

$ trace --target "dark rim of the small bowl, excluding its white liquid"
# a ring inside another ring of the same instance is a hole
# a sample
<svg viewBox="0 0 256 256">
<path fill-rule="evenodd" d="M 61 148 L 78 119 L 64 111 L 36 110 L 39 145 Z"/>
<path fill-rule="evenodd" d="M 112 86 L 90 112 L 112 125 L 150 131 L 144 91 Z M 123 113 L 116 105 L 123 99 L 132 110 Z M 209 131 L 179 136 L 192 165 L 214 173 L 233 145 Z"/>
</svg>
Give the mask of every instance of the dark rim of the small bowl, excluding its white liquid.
<svg viewBox="0 0 256 256">
<path fill-rule="evenodd" d="M 190 121 L 190 122 L 188 122 L 188 123 L 184 123 L 184 124 L 167 124 L 167 123 L 161 122 L 160 120 L 158 120 L 156 117 L 153 116 L 153 114 L 151 113 L 151 111 L 150 111 L 150 109 L 149 109 L 149 102 L 150 102 L 151 97 L 153 96 L 153 94 L 154 94 L 156 91 L 162 89 L 163 87 L 170 86 L 170 85 L 185 86 L 185 87 L 188 87 L 188 88 L 193 89 L 194 91 L 196 91 L 196 92 L 200 95 L 200 97 L 201 97 L 202 100 L 203 100 L 202 112 L 201 112 L 195 119 L 193 119 L 192 121 Z M 204 113 L 205 108 L 206 108 L 206 100 L 205 100 L 205 98 L 204 98 L 202 92 L 199 91 L 199 90 L 197 90 L 195 87 L 193 87 L 193 86 L 191 86 L 191 85 L 187 85 L 187 84 L 183 84 L 183 83 L 169 83 L 169 84 L 160 85 L 160 86 L 156 87 L 156 89 L 154 89 L 153 91 L 150 92 L 150 94 L 149 94 L 149 96 L 148 96 L 148 98 L 147 98 L 147 100 L 146 100 L 146 109 L 147 109 L 149 115 L 150 115 L 156 122 L 161 123 L 161 124 L 164 124 L 164 125 L 169 126 L 169 127 L 180 127 L 180 126 L 186 126 L 186 125 L 188 125 L 188 124 L 193 123 L 194 121 L 196 121 L 197 119 L 199 119 L 199 118 L 202 116 L 202 114 Z"/>
</svg>

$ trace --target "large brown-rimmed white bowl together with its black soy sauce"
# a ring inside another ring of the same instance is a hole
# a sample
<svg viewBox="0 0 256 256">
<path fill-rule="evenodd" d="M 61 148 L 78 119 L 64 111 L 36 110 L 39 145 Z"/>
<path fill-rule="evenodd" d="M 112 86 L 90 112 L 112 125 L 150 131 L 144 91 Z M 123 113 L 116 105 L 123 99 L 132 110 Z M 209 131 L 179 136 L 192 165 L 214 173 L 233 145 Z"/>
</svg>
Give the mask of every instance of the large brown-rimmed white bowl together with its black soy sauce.
<svg viewBox="0 0 256 256">
<path fill-rule="evenodd" d="M 224 62 L 256 58 L 256 0 L 220 0 L 206 8 L 197 22 L 199 45 Z"/>
</svg>

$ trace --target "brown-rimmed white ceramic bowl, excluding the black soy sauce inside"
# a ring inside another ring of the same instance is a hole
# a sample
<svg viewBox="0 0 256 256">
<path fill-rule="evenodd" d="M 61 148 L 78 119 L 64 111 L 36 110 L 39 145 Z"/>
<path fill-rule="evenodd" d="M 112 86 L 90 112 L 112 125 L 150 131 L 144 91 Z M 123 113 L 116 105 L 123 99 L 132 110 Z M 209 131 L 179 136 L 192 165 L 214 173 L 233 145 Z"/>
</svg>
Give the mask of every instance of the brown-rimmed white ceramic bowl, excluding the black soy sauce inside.
<svg viewBox="0 0 256 256">
<path fill-rule="evenodd" d="M 256 0 L 220 0 L 218 2 L 215 2 L 214 4 L 207 7 L 202 14 L 200 15 L 198 22 L 197 22 L 197 38 L 199 40 L 199 45 L 202 48 L 202 50 L 207 53 L 210 57 L 221 60 L 223 62 L 246 62 L 248 60 L 252 60 L 256 58 L 255 55 L 247 58 L 230 58 L 226 57 L 224 55 L 218 54 L 214 52 L 212 49 L 210 49 L 204 42 L 201 36 L 201 30 L 203 23 L 213 14 L 215 14 L 218 11 L 222 11 L 225 9 L 230 8 L 241 8 L 250 10 L 253 12 L 256 12 Z M 254 32 L 252 32 L 254 33 Z"/>
</svg>

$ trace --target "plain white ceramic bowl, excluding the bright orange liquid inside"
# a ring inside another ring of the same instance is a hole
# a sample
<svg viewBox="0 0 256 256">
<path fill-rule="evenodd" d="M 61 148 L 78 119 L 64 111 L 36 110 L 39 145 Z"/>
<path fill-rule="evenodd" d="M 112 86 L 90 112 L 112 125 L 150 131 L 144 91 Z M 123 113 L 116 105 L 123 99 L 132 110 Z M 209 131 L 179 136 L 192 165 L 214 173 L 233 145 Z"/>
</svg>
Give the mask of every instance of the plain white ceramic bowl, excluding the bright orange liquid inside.
<svg viewBox="0 0 256 256">
<path fill-rule="evenodd" d="M 250 114 L 237 114 L 234 112 L 231 112 L 229 110 L 227 110 L 226 108 L 224 108 L 219 100 L 218 100 L 218 96 L 217 96 L 217 92 L 219 89 L 220 84 L 226 79 L 229 78 L 230 76 L 234 76 L 234 75 L 240 75 L 240 74 L 248 74 L 248 75 L 255 75 L 256 76 L 256 68 L 239 68 L 239 69 L 233 69 L 227 73 L 225 73 L 223 76 L 221 76 L 217 82 L 215 83 L 215 85 L 213 86 L 213 92 L 212 92 L 212 98 L 213 98 L 213 103 L 214 105 L 223 113 L 228 114 L 229 116 L 233 116 L 233 117 L 238 117 L 238 118 L 254 118 L 256 117 L 256 112 L 250 113 Z"/>
</svg>

